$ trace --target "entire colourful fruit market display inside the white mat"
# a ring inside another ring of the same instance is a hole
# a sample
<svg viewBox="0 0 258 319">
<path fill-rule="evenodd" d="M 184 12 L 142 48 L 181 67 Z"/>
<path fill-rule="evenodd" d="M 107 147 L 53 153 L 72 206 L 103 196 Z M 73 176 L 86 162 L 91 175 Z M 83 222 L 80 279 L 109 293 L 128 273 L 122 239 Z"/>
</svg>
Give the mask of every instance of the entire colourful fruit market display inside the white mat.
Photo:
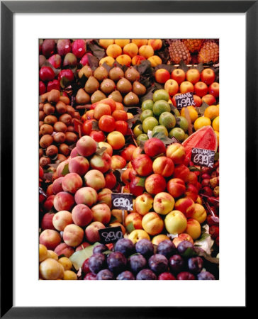
<svg viewBox="0 0 258 319">
<path fill-rule="evenodd" d="M 219 279 L 218 52 L 40 40 L 40 280 Z"/>
</svg>

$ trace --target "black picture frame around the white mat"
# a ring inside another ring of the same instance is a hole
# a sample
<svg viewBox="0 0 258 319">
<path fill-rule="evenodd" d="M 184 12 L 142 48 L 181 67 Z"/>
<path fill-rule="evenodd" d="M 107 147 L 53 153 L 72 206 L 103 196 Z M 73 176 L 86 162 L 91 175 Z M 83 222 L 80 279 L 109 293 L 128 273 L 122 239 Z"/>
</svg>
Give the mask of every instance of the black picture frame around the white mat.
<svg viewBox="0 0 258 319">
<path fill-rule="evenodd" d="M 118 3 L 119 2 L 119 3 Z M 257 196 L 258 1 L 1 1 L 1 318 L 193 318 L 200 307 L 14 307 L 13 278 L 13 14 L 14 13 L 246 13 L 246 211 Z M 8 77 L 6 77 L 8 74 Z M 8 190 L 8 191 L 7 191 Z M 8 208 L 8 213 L 4 213 Z M 248 221 L 246 216 L 246 221 Z M 8 233 L 7 233 L 8 232 Z M 8 263 L 5 262 L 8 260 Z M 8 276 L 6 275 L 8 274 Z M 236 279 L 237 281 L 237 279 Z M 29 289 L 29 287 L 24 287 Z M 247 296 L 247 295 L 246 295 Z M 247 298 L 246 298 L 247 301 Z M 247 310 L 239 307 L 241 315 Z M 223 315 L 232 309 L 223 307 Z M 212 310 L 213 315 L 221 308 Z"/>
</svg>

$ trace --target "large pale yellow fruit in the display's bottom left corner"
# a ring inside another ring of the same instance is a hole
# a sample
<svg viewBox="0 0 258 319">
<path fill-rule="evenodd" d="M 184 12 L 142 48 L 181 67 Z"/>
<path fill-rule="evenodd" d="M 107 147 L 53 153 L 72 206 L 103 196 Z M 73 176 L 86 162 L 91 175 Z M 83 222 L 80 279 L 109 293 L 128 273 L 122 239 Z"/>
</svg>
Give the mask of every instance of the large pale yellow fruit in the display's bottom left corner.
<svg viewBox="0 0 258 319">
<path fill-rule="evenodd" d="M 57 260 L 47 258 L 40 263 L 40 277 L 45 280 L 62 279 L 64 267 Z"/>
</svg>

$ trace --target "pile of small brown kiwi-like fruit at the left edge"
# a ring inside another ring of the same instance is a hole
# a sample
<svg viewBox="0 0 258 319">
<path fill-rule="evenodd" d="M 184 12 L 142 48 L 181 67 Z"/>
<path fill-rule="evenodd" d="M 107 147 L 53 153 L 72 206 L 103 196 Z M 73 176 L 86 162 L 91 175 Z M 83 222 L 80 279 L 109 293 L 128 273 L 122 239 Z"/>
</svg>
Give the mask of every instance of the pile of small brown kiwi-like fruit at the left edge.
<svg viewBox="0 0 258 319">
<path fill-rule="evenodd" d="M 74 133 L 74 118 L 80 115 L 69 105 L 68 96 L 52 89 L 40 96 L 40 166 L 47 167 L 52 162 L 62 162 L 69 156 L 71 145 L 77 142 Z"/>
</svg>

